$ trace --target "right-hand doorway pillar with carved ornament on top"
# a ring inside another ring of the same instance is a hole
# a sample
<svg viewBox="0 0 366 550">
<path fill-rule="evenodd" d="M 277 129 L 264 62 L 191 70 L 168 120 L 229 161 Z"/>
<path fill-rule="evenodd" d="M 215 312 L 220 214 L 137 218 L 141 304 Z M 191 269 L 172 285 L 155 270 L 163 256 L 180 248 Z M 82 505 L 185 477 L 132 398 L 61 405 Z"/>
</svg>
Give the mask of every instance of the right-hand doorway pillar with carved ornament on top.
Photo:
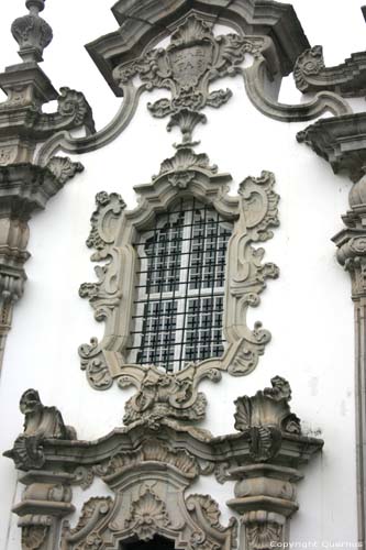
<svg viewBox="0 0 366 550">
<path fill-rule="evenodd" d="M 279 459 L 285 438 L 303 440 L 290 398 L 288 382 L 275 376 L 270 388 L 235 402 L 235 428 L 247 438 L 252 463 L 230 470 L 237 482 L 228 505 L 241 514 L 245 550 L 287 542 L 287 518 L 298 509 L 295 482 L 302 475 L 293 463 L 285 466 Z"/>
</svg>

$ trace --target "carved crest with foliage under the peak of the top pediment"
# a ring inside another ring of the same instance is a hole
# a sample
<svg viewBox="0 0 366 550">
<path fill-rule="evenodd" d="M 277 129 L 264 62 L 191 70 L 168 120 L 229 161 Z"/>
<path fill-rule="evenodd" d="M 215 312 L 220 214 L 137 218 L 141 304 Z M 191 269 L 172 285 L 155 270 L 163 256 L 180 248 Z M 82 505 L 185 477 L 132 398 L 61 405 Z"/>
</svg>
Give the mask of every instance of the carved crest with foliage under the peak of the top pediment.
<svg viewBox="0 0 366 550">
<path fill-rule="evenodd" d="M 256 55 L 258 51 L 257 41 L 237 34 L 215 37 L 211 23 L 191 14 L 171 34 L 166 50 L 152 50 L 136 62 L 118 67 L 114 78 L 123 86 L 138 75 L 149 90 L 168 89 L 171 99 L 148 103 L 148 110 L 156 118 L 173 116 L 168 129 L 179 125 L 184 142 L 190 142 L 196 124 L 206 121 L 198 111 L 207 106 L 219 108 L 232 96 L 229 89 L 210 92 L 210 82 L 235 75 L 245 53 Z"/>
</svg>

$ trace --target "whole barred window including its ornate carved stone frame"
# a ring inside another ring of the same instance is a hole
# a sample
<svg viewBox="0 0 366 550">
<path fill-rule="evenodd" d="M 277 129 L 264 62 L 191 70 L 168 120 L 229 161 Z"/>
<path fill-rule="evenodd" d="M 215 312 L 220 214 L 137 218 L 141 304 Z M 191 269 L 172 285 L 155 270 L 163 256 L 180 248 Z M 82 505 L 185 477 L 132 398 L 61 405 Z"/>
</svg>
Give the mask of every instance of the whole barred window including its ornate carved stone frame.
<svg viewBox="0 0 366 550">
<path fill-rule="evenodd" d="M 259 322 L 249 328 L 246 315 L 266 278 L 278 276 L 253 246 L 278 226 L 275 179 L 267 172 L 246 178 L 232 197 L 231 176 L 217 170 L 207 155 L 179 148 L 151 184 L 135 187 L 135 210 L 117 194 L 97 195 L 87 244 L 93 261 L 107 263 L 80 296 L 106 321 L 106 334 L 79 353 L 95 388 L 115 380 L 143 393 L 127 407 L 130 421 L 162 399 L 167 416 L 177 407 L 179 418 L 202 418 L 198 382 L 220 371 L 248 374 L 270 339 Z"/>
</svg>

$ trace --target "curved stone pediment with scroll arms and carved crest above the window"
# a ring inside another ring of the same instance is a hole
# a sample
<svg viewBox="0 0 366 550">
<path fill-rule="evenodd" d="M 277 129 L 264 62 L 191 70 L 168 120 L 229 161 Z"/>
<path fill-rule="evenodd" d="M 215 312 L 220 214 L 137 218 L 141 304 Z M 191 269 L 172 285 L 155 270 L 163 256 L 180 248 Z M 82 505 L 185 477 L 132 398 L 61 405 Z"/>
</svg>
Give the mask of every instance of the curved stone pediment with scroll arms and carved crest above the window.
<svg viewBox="0 0 366 550">
<path fill-rule="evenodd" d="M 351 113 L 348 103 L 332 91 L 320 91 L 299 105 L 278 101 L 282 76 L 310 47 L 291 6 L 280 2 L 203 0 L 199 9 L 188 0 L 133 0 L 117 2 L 113 13 L 119 31 L 86 47 L 107 82 L 123 102 L 113 120 L 92 136 L 73 138 L 62 131 L 49 138 L 37 154 L 44 165 L 58 151 L 86 153 L 113 141 L 131 122 L 144 91 L 166 89 L 170 97 L 148 103 L 156 118 L 169 117 L 167 129 L 179 127 L 182 143 L 192 144 L 192 131 L 206 122 L 206 107 L 225 105 L 230 89 L 211 89 L 214 81 L 241 75 L 246 94 L 265 116 L 279 121 L 311 120 L 325 111 Z M 214 23 L 232 33 L 215 36 Z M 166 48 L 155 47 L 170 37 Z M 251 56 L 252 66 L 243 67 Z M 247 59 L 246 59 L 247 61 Z"/>
</svg>

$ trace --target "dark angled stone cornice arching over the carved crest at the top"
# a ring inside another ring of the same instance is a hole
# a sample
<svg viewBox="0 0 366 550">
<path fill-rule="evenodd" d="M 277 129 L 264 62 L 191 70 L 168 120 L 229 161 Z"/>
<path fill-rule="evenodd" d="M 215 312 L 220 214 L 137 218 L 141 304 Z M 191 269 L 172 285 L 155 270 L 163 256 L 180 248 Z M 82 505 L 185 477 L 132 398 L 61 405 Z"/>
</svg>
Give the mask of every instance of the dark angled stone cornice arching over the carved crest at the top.
<svg viewBox="0 0 366 550">
<path fill-rule="evenodd" d="M 292 70 L 297 57 L 310 47 L 292 6 L 275 1 L 121 0 L 112 11 L 120 29 L 87 44 L 86 48 L 117 96 L 123 91 L 113 79 L 114 67 L 141 56 L 190 13 L 228 24 L 241 35 L 268 35 L 276 45 L 282 76 Z"/>
</svg>

